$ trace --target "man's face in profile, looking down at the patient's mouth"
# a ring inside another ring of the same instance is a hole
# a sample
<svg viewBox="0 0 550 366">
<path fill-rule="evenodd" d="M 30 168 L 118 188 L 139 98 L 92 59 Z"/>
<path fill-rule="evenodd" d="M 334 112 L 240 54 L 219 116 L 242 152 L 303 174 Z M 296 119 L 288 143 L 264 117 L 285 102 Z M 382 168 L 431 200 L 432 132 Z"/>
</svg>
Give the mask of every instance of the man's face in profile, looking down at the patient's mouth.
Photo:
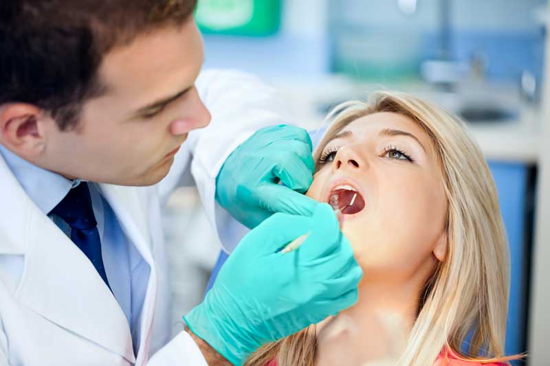
<svg viewBox="0 0 550 366">
<path fill-rule="evenodd" d="M 174 161 L 188 132 L 210 113 L 195 89 L 203 49 L 195 21 L 138 36 L 104 56 L 107 92 L 83 105 L 78 126 L 43 126 L 43 168 L 100 183 L 152 185 Z"/>
</svg>

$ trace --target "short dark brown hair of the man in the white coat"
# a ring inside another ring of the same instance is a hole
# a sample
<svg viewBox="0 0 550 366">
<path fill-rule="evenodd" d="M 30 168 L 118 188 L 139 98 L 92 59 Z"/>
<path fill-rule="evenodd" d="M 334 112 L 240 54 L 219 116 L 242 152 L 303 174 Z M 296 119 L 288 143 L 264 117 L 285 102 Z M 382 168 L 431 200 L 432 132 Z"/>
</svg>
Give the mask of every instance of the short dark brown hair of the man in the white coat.
<svg viewBox="0 0 550 366">
<path fill-rule="evenodd" d="M 181 25 L 197 0 L 1 0 L 0 104 L 47 111 L 74 127 L 88 98 L 104 90 L 105 54 L 140 34 Z"/>
</svg>

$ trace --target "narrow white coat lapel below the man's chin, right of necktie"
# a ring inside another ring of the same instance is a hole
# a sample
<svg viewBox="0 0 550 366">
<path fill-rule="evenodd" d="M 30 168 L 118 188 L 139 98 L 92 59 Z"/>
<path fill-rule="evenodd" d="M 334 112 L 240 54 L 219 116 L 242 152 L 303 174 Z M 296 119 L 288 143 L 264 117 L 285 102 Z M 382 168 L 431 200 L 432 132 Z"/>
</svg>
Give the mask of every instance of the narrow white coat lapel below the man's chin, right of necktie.
<svg viewBox="0 0 550 366">
<path fill-rule="evenodd" d="M 146 190 L 147 188 L 101 184 L 100 189 L 115 212 L 126 238 L 133 243 L 145 262 L 151 267 L 151 275 L 149 275 L 140 316 L 140 352 L 137 354 L 136 363 L 141 364 L 148 358 L 147 351 L 151 340 L 157 294 L 157 277 L 152 254 L 151 231 L 146 218 L 148 209 L 147 203 L 144 201 L 146 194 L 140 194 L 140 190 Z"/>
</svg>

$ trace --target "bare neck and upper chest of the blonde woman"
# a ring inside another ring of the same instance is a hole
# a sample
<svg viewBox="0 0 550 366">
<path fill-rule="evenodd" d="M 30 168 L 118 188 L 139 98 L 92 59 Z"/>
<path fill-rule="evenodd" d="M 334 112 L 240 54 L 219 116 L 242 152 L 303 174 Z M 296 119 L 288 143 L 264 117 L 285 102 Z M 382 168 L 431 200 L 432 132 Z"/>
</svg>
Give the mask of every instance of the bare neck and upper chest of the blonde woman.
<svg viewBox="0 0 550 366">
<path fill-rule="evenodd" d="M 395 365 L 415 323 L 419 287 L 363 281 L 357 304 L 318 324 L 316 365 Z"/>
</svg>

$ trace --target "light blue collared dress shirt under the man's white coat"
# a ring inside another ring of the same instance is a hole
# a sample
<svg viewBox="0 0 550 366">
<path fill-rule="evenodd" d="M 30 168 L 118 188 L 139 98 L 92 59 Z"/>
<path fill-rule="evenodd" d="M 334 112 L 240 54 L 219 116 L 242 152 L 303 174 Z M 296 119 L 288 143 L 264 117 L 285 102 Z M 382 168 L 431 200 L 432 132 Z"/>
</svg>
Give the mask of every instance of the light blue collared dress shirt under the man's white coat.
<svg viewBox="0 0 550 366">
<path fill-rule="evenodd" d="M 58 216 L 49 213 L 65 198 L 69 190 L 80 184 L 80 181 L 70 181 L 59 174 L 40 168 L 15 155 L 1 144 L 0 155 L 36 206 L 70 238 L 69 225 Z M 98 222 L 105 273 L 113 295 L 126 315 L 134 350 L 137 350 L 139 315 L 145 296 L 144 284 L 146 285 L 148 280 L 148 268 L 144 271 L 146 263 L 137 249 L 129 244 L 111 206 L 100 194 L 97 183 L 88 182 L 88 186 Z"/>
</svg>

